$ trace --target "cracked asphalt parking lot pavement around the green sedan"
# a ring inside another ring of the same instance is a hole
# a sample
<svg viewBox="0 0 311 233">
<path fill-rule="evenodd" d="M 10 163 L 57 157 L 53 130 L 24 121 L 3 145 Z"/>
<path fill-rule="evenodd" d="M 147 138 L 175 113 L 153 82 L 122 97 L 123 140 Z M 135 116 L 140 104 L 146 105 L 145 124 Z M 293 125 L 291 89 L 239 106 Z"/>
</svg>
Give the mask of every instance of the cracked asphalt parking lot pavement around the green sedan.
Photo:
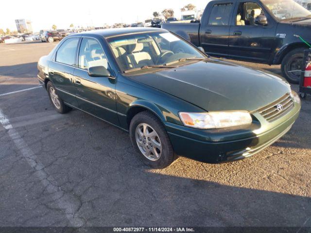
<svg viewBox="0 0 311 233">
<path fill-rule="evenodd" d="M 310 96 L 293 128 L 253 157 L 154 170 L 127 133 L 54 111 L 36 63 L 56 44 L 0 44 L 0 227 L 311 226 Z"/>
</svg>

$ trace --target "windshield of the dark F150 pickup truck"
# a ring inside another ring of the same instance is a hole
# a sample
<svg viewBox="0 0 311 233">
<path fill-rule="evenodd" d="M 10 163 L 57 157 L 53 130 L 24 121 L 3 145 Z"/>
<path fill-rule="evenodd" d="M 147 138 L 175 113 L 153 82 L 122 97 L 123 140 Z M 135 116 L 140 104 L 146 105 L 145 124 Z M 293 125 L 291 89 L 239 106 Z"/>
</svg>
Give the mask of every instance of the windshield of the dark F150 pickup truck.
<svg viewBox="0 0 311 233">
<path fill-rule="evenodd" d="M 263 0 L 262 2 L 281 21 L 311 18 L 311 12 L 293 0 Z"/>
</svg>

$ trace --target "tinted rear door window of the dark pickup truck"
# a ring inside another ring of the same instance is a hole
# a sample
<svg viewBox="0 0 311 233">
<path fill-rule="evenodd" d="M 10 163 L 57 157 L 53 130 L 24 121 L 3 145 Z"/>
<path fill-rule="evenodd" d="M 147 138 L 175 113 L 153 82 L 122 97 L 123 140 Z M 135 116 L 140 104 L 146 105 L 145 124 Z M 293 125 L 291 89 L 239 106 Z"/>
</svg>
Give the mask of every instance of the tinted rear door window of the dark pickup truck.
<svg viewBox="0 0 311 233">
<path fill-rule="evenodd" d="M 209 16 L 209 25 L 228 25 L 232 3 L 215 4 Z"/>
</svg>

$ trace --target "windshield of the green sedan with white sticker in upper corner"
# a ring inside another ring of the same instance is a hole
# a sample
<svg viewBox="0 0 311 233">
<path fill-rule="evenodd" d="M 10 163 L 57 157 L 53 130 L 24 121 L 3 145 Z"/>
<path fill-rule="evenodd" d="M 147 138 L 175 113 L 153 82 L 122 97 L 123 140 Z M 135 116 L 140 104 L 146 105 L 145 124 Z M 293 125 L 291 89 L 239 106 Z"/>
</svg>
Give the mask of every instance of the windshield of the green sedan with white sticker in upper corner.
<svg viewBox="0 0 311 233">
<path fill-rule="evenodd" d="M 175 66 L 187 59 L 207 57 L 188 42 L 166 32 L 112 37 L 108 43 L 123 71 L 146 66 L 169 67 L 169 63 Z"/>
</svg>

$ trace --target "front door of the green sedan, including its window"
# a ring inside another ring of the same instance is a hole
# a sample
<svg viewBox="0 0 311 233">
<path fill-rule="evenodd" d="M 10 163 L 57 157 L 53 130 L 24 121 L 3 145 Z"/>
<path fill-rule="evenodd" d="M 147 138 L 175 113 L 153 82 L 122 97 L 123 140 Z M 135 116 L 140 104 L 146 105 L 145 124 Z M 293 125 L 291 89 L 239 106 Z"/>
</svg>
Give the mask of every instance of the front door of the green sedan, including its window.
<svg viewBox="0 0 311 233">
<path fill-rule="evenodd" d="M 83 38 L 74 70 L 74 83 L 79 108 L 112 124 L 118 125 L 116 111 L 116 80 L 107 77 L 90 77 L 89 67 L 103 66 L 112 72 L 104 50 L 98 40 Z"/>
</svg>

